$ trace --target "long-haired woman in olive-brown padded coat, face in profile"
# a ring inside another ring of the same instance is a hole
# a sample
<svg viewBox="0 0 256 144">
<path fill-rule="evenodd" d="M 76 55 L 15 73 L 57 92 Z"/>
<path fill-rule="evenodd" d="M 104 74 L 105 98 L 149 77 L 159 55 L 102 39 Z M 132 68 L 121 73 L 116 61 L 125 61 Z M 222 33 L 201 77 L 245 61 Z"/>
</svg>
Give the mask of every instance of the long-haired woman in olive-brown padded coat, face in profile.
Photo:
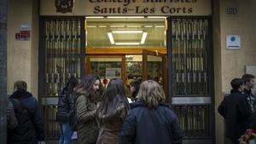
<svg viewBox="0 0 256 144">
<path fill-rule="evenodd" d="M 85 77 L 74 89 L 75 111 L 79 124 L 78 143 L 95 144 L 98 135 L 96 124 L 96 96 L 101 81 L 96 75 Z"/>
</svg>

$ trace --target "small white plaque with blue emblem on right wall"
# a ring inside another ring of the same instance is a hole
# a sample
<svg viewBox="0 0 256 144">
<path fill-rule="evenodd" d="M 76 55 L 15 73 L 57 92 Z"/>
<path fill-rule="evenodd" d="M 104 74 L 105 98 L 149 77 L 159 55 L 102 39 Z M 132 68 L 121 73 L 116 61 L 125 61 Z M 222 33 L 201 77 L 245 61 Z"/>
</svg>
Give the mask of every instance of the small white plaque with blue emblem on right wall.
<svg viewBox="0 0 256 144">
<path fill-rule="evenodd" d="M 227 49 L 240 49 L 241 38 L 238 35 L 228 35 L 226 38 Z"/>
</svg>

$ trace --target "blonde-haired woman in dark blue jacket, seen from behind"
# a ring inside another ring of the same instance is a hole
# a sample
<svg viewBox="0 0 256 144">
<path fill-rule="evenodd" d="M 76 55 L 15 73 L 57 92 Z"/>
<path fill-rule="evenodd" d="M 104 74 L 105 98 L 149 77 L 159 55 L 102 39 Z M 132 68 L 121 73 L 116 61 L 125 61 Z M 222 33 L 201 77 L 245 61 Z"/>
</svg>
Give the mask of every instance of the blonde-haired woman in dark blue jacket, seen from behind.
<svg viewBox="0 0 256 144">
<path fill-rule="evenodd" d="M 166 96 L 160 84 L 143 82 L 137 98 L 125 118 L 119 144 L 182 144 L 177 115 L 164 103 Z"/>
</svg>

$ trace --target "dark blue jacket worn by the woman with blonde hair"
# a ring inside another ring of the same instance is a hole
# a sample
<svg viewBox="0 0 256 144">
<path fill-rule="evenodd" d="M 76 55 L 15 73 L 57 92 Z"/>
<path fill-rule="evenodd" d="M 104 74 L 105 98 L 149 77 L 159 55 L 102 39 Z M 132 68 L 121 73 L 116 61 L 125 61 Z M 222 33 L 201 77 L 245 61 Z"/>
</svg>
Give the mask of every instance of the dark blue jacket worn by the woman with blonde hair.
<svg viewBox="0 0 256 144">
<path fill-rule="evenodd" d="M 119 144 L 181 144 L 182 140 L 177 115 L 167 105 L 149 109 L 141 102 L 131 104 L 119 135 Z"/>
</svg>

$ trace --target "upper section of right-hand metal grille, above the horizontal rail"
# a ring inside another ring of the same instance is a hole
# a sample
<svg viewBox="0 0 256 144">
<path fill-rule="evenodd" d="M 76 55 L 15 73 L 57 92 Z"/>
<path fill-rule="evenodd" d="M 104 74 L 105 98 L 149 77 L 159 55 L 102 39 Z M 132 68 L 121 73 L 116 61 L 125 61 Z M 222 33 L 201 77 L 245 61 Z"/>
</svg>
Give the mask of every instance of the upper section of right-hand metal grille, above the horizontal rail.
<svg viewBox="0 0 256 144">
<path fill-rule="evenodd" d="M 208 95 L 208 20 L 172 19 L 174 95 Z"/>
</svg>

